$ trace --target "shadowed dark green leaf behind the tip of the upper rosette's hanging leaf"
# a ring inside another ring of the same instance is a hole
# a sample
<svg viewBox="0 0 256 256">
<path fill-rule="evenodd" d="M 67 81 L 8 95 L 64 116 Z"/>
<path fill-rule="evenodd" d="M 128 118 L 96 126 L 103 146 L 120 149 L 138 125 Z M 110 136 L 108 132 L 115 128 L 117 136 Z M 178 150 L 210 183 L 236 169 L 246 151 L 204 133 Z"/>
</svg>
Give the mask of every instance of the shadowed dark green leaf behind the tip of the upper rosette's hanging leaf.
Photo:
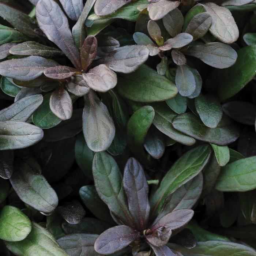
<svg viewBox="0 0 256 256">
<path fill-rule="evenodd" d="M 80 133 L 76 137 L 75 144 L 75 157 L 76 163 L 84 173 L 84 175 L 91 180 L 93 180 L 93 173 L 91 170 L 91 165 L 93 163 L 94 152 L 90 150 L 87 146 L 86 141 L 84 140 L 84 136 Z"/>
</svg>

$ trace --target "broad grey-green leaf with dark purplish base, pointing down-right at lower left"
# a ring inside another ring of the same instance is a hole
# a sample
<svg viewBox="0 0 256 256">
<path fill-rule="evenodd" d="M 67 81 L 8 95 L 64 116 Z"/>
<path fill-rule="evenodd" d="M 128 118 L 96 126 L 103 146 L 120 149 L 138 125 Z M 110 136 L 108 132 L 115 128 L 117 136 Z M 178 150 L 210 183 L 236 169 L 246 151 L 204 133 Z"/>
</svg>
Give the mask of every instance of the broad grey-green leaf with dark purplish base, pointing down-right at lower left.
<svg viewBox="0 0 256 256">
<path fill-rule="evenodd" d="M 45 177 L 25 162 L 19 162 L 10 178 L 20 199 L 45 214 L 50 214 L 58 205 L 58 197 Z"/>
</svg>

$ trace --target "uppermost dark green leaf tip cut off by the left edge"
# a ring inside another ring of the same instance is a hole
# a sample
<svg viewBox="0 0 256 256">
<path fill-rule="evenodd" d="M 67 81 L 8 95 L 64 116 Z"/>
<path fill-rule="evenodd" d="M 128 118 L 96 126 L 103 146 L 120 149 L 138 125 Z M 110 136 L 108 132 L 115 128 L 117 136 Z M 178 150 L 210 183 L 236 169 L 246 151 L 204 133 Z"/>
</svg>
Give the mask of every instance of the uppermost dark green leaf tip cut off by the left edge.
<svg viewBox="0 0 256 256">
<path fill-rule="evenodd" d="M 18 43 L 27 39 L 26 35 L 23 35 L 18 30 L 0 24 L 0 45 L 9 42 Z"/>
</svg>

